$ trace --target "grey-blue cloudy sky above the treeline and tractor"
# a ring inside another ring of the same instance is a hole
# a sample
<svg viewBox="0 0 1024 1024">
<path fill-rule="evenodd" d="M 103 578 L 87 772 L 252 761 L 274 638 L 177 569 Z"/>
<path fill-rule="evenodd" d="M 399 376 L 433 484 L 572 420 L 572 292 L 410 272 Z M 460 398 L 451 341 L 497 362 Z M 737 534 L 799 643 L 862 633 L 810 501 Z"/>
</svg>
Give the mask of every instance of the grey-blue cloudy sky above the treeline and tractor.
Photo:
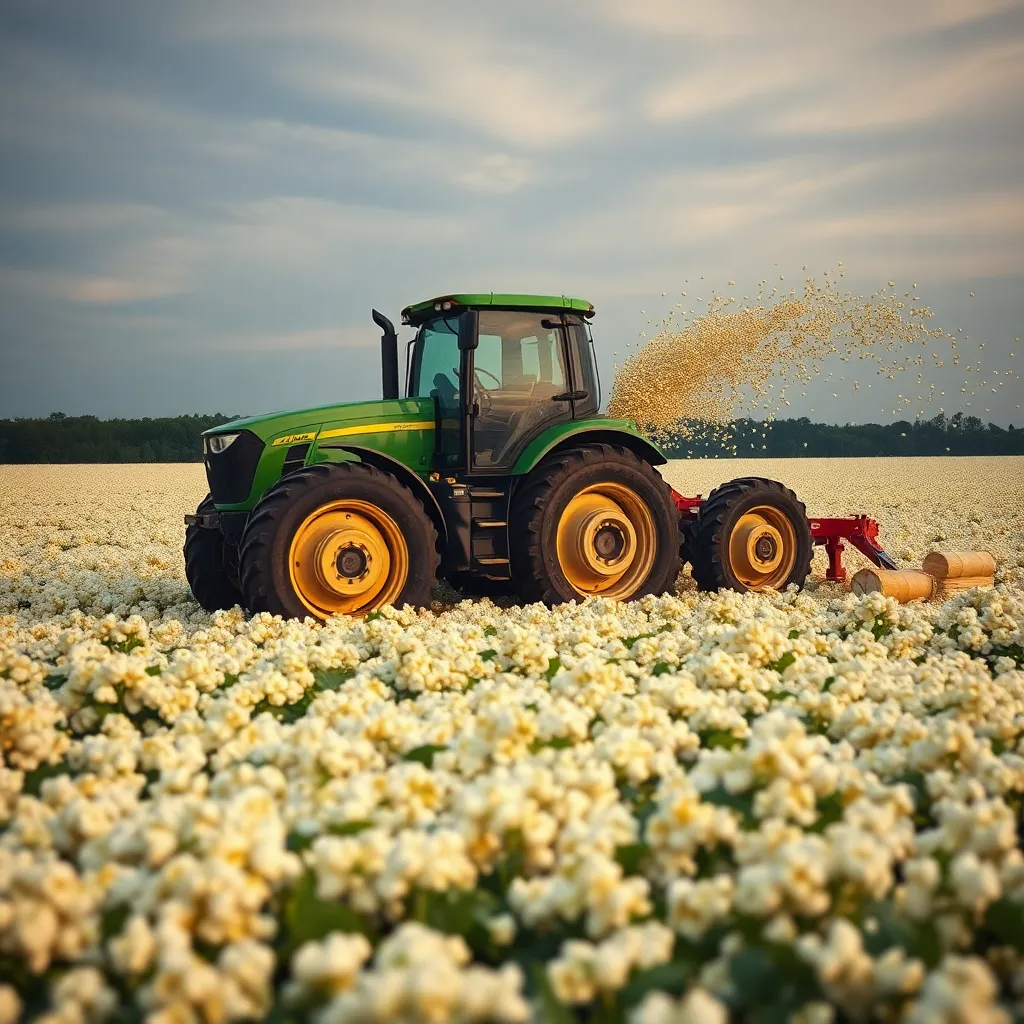
<svg viewBox="0 0 1024 1024">
<path fill-rule="evenodd" d="M 0 416 L 375 396 L 371 307 L 461 290 L 590 299 L 607 382 L 687 279 L 842 260 L 1020 423 L 1021 96 L 1019 0 L 5 0 Z"/>
</svg>

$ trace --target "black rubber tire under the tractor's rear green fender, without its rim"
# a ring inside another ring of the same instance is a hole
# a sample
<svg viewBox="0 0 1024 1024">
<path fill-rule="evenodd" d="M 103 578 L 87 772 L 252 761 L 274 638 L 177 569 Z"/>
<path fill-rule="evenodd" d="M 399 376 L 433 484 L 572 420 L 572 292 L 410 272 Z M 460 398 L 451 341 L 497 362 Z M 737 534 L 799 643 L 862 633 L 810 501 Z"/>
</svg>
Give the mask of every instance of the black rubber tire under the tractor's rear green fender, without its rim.
<svg viewBox="0 0 1024 1024">
<path fill-rule="evenodd" d="M 681 567 L 679 510 L 660 474 L 628 449 L 587 444 L 557 453 L 537 466 L 513 498 L 509 531 L 512 579 L 523 601 L 559 604 L 581 601 L 584 594 L 566 579 L 556 548 L 558 523 L 568 503 L 585 487 L 617 483 L 646 505 L 653 520 L 653 563 L 626 597 L 664 594 Z"/>
</svg>

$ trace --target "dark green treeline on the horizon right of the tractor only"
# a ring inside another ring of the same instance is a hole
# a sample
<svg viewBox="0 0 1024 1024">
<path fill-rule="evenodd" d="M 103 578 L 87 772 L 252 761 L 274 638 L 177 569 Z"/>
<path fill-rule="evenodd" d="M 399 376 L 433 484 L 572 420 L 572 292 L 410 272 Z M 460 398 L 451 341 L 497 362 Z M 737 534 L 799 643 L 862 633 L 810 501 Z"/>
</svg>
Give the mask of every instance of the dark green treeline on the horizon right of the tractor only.
<svg viewBox="0 0 1024 1024">
<path fill-rule="evenodd" d="M 940 413 L 910 423 L 838 426 L 796 420 L 737 420 L 728 430 L 685 424 L 685 434 L 666 444 L 677 458 L 836 458 L 923 455 L 1024 455 L 1024 429 L 983 423 L 976 416 Z"/>
</svg>

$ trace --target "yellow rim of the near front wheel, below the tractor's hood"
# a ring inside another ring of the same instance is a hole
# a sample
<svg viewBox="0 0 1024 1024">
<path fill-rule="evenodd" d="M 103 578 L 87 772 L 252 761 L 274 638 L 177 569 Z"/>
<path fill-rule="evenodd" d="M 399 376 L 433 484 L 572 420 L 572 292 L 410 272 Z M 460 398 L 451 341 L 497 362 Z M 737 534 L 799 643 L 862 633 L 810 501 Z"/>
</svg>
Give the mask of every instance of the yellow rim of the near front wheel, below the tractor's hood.
<svg viewBox="0 0 1024 1024">
<path fill-rule="evenodd" d="M 360 615 L 397 599 L 409 578 L 409 547 L 383 509 L 344 498 L 299 524 L 288 570 L 296 596 L 317 618 Z"/>
</svg>

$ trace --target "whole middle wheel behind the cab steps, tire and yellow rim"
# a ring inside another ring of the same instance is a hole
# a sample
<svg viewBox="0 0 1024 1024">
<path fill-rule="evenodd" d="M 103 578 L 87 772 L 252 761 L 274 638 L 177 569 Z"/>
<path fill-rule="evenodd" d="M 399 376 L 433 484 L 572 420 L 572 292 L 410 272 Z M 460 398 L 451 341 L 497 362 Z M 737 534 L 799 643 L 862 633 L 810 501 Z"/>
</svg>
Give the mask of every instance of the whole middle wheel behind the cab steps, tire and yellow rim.
<svg viewBox="0 0 1024 1024">
<path fill-rule="evenodd" d="M 524 601 L 629 601 L 679 574 L 679 510 L 660 475 L 628 449 L 559 452 L 515 496 L 512 578 Z"/>
</svg>

